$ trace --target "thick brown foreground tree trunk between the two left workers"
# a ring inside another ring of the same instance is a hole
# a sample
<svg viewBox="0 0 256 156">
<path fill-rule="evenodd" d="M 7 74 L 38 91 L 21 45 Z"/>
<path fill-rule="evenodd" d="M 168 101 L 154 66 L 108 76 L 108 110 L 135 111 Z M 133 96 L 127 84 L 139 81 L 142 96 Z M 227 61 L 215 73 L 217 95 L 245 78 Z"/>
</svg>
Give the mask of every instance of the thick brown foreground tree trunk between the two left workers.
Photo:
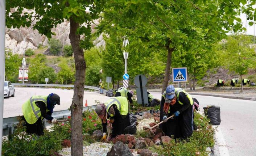
<svg viewBox="0 0 256 156">
<path fill-rule="evenodd" d="M 71 110 L 71 155 L 83 156 L 82 112 L 86 63 L 79 46 L 80 35 L 76 34 L 79 24 L 70 17 L 70 42 L 75 58 L 75 87 Z"/>
</svg>

